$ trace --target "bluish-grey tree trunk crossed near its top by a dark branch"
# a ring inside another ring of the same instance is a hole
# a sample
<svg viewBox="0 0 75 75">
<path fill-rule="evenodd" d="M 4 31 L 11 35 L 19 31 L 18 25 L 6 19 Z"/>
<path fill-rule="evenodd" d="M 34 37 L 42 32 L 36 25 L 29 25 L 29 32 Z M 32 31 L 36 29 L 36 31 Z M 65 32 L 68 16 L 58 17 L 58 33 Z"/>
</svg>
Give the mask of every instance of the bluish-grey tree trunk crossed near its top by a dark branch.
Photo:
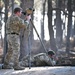
<svg viewBox="0 0 75 75">
<path fill-rule="evenodd" d="M 61 8 L 61 0 L 57 0 L 57 8 Z M 61 47 L 62 41 L 62 25 L 61 25 L 61 11 L 56 10 L 56 44 L 57 47 Z"/>
</svg>

